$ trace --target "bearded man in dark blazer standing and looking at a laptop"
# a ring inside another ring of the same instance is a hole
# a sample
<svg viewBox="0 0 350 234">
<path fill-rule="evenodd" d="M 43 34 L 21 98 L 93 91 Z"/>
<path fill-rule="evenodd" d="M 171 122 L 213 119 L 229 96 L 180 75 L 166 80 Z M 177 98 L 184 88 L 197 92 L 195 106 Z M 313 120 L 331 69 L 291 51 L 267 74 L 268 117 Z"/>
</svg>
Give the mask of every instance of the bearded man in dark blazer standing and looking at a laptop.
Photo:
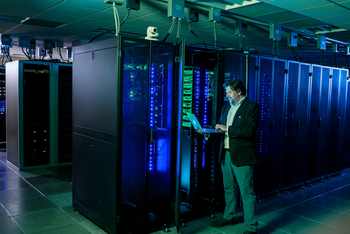
<svg viewBox="0 0 350 234">
<path fill-rule="evenodd" d="M 240 80 L 224 84 L 230 103 L 223 106 L 215 129 L 225 132 L 220 147 L 221 169 L 225 190 L 225 212 L 213 227 L 234 225 L 237 207 L 237 184 L 243 198 L 244 234 L 257 233 L 256 196 L 253 189 L 253 170 L 257 157 L 253 139 L 259 124 L 259 105 L 245 97 L 246 89 Z"/>
</svg>

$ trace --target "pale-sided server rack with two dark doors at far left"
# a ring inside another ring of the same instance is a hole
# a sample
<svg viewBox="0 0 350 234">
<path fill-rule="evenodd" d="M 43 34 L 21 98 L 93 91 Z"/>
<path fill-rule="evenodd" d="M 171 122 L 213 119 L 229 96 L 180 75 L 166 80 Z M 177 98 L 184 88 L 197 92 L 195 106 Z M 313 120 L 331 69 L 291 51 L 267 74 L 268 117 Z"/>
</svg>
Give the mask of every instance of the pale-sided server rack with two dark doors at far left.
<svg viewBox="0 0 350 234">
<path fill-rule="evenodd" d="M 61 122 L 58 102 L 65 98 L 58 95 L 58 84 L 60 89 L 70 86 L 71 64 L 14 61 L 6 64 L 6 71 L 7 160 L 20 170 L 70 163 L 71 151 L 68 156 L 59 154 L 57 141 Z M 70 80 L 62 80 L 62 76 Z M 62 87 L 63 83 L 68 84 Z M 66 118 L 71 118 L 66 112 Z M 63 131 L 72 134 L 69 128 Z M 60 142 L 62 148 L 69 145 L 71 141 Z M 68 160 L 62 162 L 62 157 Z"/>
</svg>

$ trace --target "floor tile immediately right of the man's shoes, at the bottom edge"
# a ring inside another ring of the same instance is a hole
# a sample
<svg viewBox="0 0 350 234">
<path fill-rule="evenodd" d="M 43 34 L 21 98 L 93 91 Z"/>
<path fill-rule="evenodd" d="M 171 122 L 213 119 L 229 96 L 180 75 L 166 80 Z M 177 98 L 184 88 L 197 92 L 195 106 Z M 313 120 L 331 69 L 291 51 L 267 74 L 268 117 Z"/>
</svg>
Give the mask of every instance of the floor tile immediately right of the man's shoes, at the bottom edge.
<svg viewBox="0 0 350 234">
<path fill-rule="evenodd" d="M 289 214 L 284 211 L 278 211 L 261 218 L 258 217 L 258 222 L 293 234 L 303 233 L 319 225 L 319 223 L 315 221 Z"/>
</svg>

